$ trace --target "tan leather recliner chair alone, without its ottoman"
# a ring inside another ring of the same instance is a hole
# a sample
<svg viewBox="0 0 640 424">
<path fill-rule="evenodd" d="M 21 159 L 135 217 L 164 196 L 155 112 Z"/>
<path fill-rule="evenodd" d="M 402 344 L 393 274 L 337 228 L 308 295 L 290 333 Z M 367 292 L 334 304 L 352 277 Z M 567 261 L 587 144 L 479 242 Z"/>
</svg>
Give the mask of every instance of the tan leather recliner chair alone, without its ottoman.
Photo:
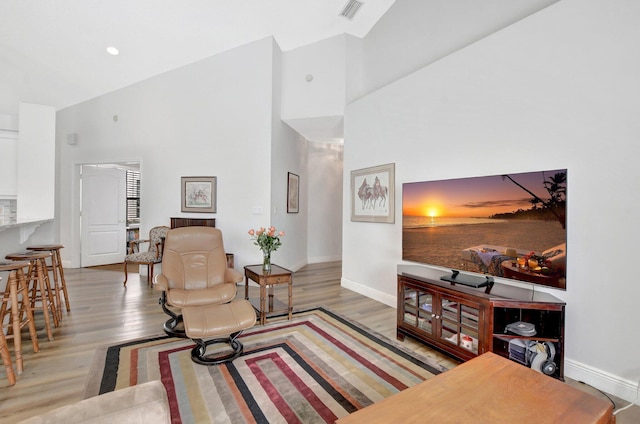
<svg viewBox="0 0 640 424">
<path fill-rule="evenodd" d="M 156 275 L 154 287 L 162 290 L 160 303 L 171 318 L 164 331 L 185 337 L 180 328 L 182 314 L 169 307 L 227 303 L 236 296 L 236 283 L 242 273 L 227 268 L 222 232 L 210 227 L 182 227 L 170 230 L 164 244 L 162 273 Z"/>
</svg>

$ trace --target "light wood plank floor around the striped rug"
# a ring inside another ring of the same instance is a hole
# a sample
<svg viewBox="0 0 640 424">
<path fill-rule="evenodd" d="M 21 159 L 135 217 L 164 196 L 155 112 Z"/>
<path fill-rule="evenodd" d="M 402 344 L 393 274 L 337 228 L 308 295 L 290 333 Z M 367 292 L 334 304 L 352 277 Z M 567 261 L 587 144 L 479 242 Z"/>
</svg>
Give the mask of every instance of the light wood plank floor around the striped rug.
<svg viewBox="0 0 640 424">
<path fill-rule="evenodd" d="M 54 340 L 47 341 L 38 316 L 40 352 L 33 353 L 28 334 L 23 335 L 24 373 L 9 386 L 0 370 L 0 422 L 14 423 L 79 401 L 95 349 L 105 344 L 162 333 L 167 316 L 158 305 L 159 292 L 136 273 L 123 288 L 122 266 L 65 269 L 71 312 L 63 313 Z M 113 269 L 113 270 L 112 270 Z M 347 318 L 395 340 L 396 310 L 340 287 L 341 263 L 312 264 L 294 275 L 294 310 L 326 306 Z M 286 298 L 286 289 L 276 296 Z M 239 295 L 244 293 L 239 288 Z M 252 287 L 250 296 L 257 296 Z M 9 342 L 10 348 L 13 344 Z M 404 345 L 451 368 L 456 361 L 407 338 Z M 587 386 L 573 383 L 601 396 Z M 617 401 L 617 406 L 626 402 Z M 621 412 L 618 424 L 640 422 L 640 407 Z"/>
</svg>

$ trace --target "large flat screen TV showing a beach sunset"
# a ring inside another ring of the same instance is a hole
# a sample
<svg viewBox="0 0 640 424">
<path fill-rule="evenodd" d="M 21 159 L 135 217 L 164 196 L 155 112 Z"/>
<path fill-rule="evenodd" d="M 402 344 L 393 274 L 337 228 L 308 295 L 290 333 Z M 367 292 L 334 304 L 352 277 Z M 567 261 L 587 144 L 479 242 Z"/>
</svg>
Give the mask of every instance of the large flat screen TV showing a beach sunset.
<svg viewBox="0 0 640 424">
<path fill-rule="evenodd" d="M 402 259 L 566 290 L 566 203 L 566 169 L 403 183 Z"/>
</svg>

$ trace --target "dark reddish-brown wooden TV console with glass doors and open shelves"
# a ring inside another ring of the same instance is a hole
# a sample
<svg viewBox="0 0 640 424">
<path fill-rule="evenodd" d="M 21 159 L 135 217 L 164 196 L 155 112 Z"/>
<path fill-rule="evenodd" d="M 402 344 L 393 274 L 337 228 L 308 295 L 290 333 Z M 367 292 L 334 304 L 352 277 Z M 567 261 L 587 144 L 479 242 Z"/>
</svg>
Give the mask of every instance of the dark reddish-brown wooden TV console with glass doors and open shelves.
<svg viewBox="0 0 640 424">
<path fill-rule="evenodd" d="M 410 336 L 462 361 L 494 352 L 520 363 L 524 361 L 519 353 L 528 354 L 529 348 L 523 346 L 529 341 L 547 342 L 555 354 L 549 355 L 547 349 L 541 359 L 553 362 L 549 375 L 564 379 L 564 301 L 501 283 L 482 288 L 452 284 L 440 279 L 445 274 L 418 265 L 398 265 L 398 340 Z M 533 324 L 535 335 L 507 333 L 506 326 L 517 322 Z M 540 368 L 539 360 L 535 364 Z"/>
</svg>

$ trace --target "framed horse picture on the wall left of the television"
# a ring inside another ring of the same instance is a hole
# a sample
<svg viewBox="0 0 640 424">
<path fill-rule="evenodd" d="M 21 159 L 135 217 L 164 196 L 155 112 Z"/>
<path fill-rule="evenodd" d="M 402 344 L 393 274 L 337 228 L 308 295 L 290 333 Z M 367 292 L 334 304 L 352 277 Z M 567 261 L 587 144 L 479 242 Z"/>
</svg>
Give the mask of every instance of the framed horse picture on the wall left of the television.
<svg viewBox="0 0 640 424">
<path fill-rule="evenodd" d="M 351 171 L 351 221 L 395 221 L 395 163 Z"/>
</svg>

